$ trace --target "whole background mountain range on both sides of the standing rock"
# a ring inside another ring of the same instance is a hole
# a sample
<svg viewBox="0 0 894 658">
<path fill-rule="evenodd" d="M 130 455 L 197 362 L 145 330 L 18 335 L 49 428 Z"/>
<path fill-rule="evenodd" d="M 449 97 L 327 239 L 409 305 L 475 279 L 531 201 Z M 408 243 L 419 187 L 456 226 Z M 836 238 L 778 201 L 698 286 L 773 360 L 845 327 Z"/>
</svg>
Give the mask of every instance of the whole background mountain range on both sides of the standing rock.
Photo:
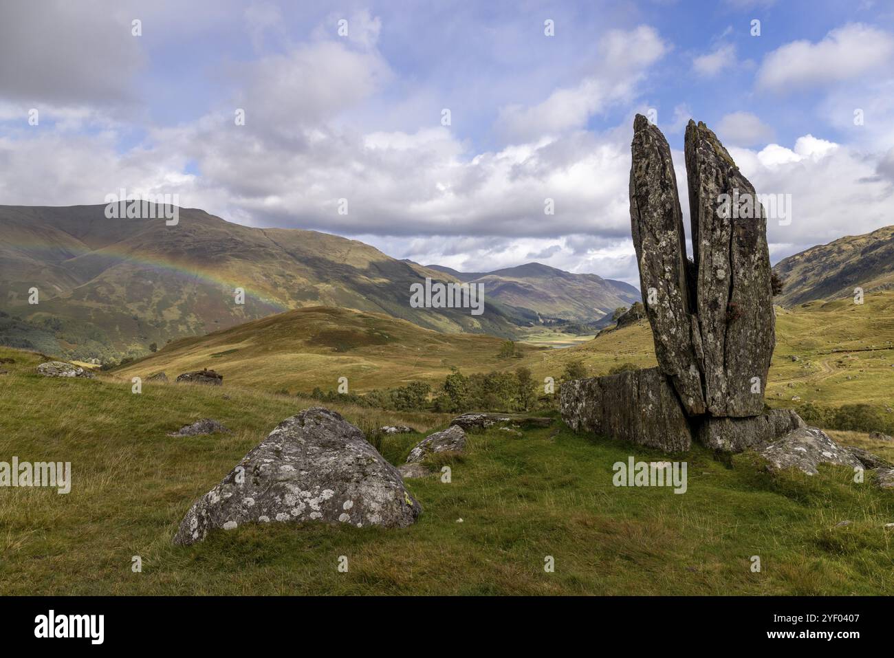
<svg viewBox="0 0 894 658">
<path fill-rule="evenodd" d="M 539 325 L 598 326 L 640 299 L 628 283 L 540 263 L 459 272 L 328 233 L 233 224 L 196 208 L 179 215 L 167 226 L 108 219 L 105 205 L 0 206 L 0 344 L 73 359 L 138 357 L 183 337 L 309 307 L 519 339 Z M 852 297 L 856 287 L 888 288 L 894 227 L 807 249 L 774 271 L 785 280 L 776 302 L 786 307 Z M 411 284 L 426 278 L 481 283 L 484 314 L 411 307 Z"/>
</svg>

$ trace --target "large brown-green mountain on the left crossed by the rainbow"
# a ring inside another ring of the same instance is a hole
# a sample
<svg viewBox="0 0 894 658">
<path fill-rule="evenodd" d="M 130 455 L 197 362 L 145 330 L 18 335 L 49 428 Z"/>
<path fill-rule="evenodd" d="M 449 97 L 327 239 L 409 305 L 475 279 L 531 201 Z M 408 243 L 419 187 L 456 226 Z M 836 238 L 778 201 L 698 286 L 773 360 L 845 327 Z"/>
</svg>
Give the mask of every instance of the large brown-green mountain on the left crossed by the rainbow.
<svg viewBox="0 0 894 658">
<path fill-rule="evenodd" d="M 166 226 L 106 219 L 105 206 L 0 206 L 0 308 L 20 318 L 0 323 L 0 340 L 27 346 L 33 334 L 46 345 L 49 333 L 55 352 L 77 359 L 145 353 L 153 342 L 321 305 L 448 333 L 513 336 L 527 324 L 525 313 L 495 300 L 481 316 L 411 308 L 409 286 L 425 276 L 451 279 L 357 240 L 252 228 L 195 208 L 180 208 L 179 223 Z M 37 305 L 28 303 L 32 287 Z"/>
</svg>

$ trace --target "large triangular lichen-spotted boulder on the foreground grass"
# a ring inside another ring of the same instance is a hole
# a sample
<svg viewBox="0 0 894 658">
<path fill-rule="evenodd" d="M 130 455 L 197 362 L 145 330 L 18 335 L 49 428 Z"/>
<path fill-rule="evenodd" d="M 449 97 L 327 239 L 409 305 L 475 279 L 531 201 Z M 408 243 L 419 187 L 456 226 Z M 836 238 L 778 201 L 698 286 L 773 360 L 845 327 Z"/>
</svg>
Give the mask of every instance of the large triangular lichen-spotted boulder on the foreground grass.
<svg viewBox="0 0 894 658">
<path fill-rule="evenodd" d="M 286 418 L 181 521 L 174 544 L 244 523 L 325 521 L 407 527 L 422 506 L 397 469 L 334 411 Z"/>
</svg>

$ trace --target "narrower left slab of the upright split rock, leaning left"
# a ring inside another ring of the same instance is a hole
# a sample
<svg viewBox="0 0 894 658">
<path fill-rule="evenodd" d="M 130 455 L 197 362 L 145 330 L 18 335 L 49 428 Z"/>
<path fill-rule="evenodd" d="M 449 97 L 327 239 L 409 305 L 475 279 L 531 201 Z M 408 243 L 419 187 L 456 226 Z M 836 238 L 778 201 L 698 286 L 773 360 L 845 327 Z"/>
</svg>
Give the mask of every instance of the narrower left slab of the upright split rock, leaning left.
<svg viewBox="0 0 894 658">
<path fill-rule="evenodd" d="M 686 235 L 671 148 L 642 114 L 630 145 L 630 227 L 655 357 L 690 416 L 704 413 L 700 336 L 691 315 Z"/>
</svg>

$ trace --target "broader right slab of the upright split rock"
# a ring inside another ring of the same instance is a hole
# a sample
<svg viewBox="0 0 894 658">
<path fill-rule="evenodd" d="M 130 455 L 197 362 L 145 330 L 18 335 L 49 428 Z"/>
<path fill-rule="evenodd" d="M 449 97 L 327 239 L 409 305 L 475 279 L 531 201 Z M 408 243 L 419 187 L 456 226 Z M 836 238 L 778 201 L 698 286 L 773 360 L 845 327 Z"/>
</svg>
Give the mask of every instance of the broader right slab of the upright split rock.
<svg viewBox="0 0 894 658">
<path fill-rule="evenodd" d="M 686 168 L 707 409 L 757 416 L 775 346 L 766 215 L 702 122 L 687 126 Z"/>
</svg>

